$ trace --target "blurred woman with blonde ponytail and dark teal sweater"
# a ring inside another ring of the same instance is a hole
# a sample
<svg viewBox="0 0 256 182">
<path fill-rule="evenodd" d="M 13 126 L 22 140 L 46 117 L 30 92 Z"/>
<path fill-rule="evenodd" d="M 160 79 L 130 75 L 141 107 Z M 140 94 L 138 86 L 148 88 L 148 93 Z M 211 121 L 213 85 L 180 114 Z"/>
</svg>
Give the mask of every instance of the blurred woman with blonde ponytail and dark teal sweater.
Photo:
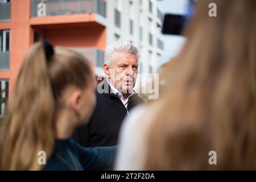
<svg viewBox="0 0 256 182">
<path fill-rule="evenodd" d="M 5 115 L 1 170 L 106 169 L 115 147 L 84 148 L 70 139 L 96 104 L 91 66 L 79 53 L 36 43 L 28 51 Z M 46 154 L 46 165 L 40 155 Z M 38 160 L 39 159 L 39 160 Z"/>
</svg>

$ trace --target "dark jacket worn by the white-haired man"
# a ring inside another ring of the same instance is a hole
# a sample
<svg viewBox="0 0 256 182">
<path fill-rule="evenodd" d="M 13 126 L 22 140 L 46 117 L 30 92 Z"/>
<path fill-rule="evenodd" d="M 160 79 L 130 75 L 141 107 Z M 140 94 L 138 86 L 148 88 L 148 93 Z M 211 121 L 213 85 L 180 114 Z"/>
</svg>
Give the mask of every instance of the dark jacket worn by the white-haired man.
<svg viewBox="0 0 256 182">
<path fill-rule="evenodd" d="M 100 89 L 101 88 L 101 89 Z M 98 90 L 104 90 L 99 93 Z M 143 100 L 138 94 L 129 98 L 127 109 L 118 96 L 111 93 L 106 80 L 98 85 L 96 92 L 97 104 L 92 117 L 85 126 L 78 127 L 73 133 L 73 139 L 84 147 L 115 146 L 118 142 L 119 130 L 123 119 L 130 110 Z"/>
</svg>

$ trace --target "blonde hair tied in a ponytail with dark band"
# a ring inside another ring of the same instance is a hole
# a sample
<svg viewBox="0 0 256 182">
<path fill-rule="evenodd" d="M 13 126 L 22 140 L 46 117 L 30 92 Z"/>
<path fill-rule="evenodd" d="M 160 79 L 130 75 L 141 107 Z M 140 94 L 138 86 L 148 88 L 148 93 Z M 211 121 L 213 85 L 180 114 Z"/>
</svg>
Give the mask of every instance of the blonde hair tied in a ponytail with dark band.
<svg viewBox="0 0 256 182">
<path fill-rule="evenodd" d="M 0 170 L 38 170 L 38 152 L 51 156 L 58 98 L 69 85 L 85 88 L 92 71 L 81 55 L 56 48 L 46 59 L 43 43 L 28 50 L 7 108 L 0 138 Z"/>
</svg>

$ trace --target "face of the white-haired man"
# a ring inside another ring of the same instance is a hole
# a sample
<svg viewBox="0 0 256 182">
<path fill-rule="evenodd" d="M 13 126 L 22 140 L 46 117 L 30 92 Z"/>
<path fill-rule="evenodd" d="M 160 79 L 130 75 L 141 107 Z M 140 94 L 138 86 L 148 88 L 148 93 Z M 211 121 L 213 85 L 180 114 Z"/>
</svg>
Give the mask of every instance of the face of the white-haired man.
<svg viewBox="0 0 256 182">
<path fill-rule="evenodd" d="M 106 67 L 110 84 L 121 93 L 131 93 L 138 74 L 137 57 L 126 52 L 115 52 L 112 64 L 104 65 L 104 70 Z"/>
</svg>

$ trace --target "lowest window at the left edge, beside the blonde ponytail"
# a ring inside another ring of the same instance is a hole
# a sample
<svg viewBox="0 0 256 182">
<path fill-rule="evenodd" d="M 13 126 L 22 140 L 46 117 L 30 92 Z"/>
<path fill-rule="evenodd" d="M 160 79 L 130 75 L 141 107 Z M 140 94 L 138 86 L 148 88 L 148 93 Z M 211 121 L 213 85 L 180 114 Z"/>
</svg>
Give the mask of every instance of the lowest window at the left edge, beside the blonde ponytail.
<svg viewBox="0 0 256 182">
<path fill-rule="evenodd" d="M 5 115 L 5 106 L 9 98 L 9 80 L 0 80 L 0 117 L 2 118 Z"/>
</svg>

